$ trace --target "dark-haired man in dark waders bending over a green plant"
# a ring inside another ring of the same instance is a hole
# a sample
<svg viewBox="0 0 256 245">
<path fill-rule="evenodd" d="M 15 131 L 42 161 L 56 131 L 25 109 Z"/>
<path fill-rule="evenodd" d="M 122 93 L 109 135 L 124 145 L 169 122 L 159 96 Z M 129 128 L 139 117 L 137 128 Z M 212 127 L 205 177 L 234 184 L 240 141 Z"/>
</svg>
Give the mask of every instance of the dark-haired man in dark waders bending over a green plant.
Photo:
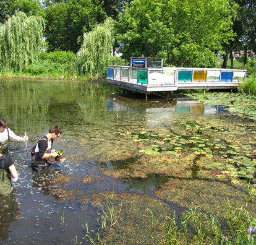
<svg viewBox="0 0 256 245">
<path fill-rule="evenodd" d="M 57 139 L 62 130 L 59 126 L 52 126 L 49 133 L 39 139 L 36 145 L 31 149 L 31 167 L 36 171 L 42 171 L 49 166 L 50 157 L 58 156 L 55 150 L 52 150 L 52 143 Z"/>
</svg>

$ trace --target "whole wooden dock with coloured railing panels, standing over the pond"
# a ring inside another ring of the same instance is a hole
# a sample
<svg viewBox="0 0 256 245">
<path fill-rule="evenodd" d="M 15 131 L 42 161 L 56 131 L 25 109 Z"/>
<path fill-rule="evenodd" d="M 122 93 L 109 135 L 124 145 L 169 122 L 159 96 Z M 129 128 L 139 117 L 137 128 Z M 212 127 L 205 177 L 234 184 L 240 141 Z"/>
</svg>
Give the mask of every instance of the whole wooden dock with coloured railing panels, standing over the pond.
<svg viewBox="0 0 256 245">
<path fill-rule="evenodd" d="M 150 94 L 178 89 L 234 89 L 244 82 L 246 70 L 221 68 L 141 68 L 110 65 L 107 83 L 113 86 Z"/>
</svg>

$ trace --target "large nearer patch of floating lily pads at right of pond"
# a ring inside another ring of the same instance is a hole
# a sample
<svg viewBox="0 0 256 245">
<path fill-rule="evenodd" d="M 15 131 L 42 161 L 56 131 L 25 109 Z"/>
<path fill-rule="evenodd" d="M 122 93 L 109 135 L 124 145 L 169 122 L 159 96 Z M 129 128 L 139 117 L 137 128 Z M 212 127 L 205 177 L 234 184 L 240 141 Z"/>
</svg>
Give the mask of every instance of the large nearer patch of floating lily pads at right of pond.
<svg viewBox="0 0 256 245">
<path fill-rule="evenodd" d="M 175 135 L 172 130 L 170 134 L 152 134 L 150 131 L 129 132 L 138 146 L 138 152 L 158 154 L 163 158 L 173 158 L 176 162 L 185 156 L 191 156 L 196 162 L 205 158 L 208 161 L 203 161 L 203 168 L 211 171 L 212 177 L 227 179 L 235 185 L 248 181 L 255 183 L 256 137 L 253 138 L 253 126 L 239 124 L 227 128 L 200 121 L 172 122 L 185 129 L 182 135 Z M 241 131 L 245 136 L 239 139 Z M 141 141 L 144 142 L 143 145 L 139 144 Z M 256 195 L 255 186 L 252 188 L 252 195 Z"/>
</svg>

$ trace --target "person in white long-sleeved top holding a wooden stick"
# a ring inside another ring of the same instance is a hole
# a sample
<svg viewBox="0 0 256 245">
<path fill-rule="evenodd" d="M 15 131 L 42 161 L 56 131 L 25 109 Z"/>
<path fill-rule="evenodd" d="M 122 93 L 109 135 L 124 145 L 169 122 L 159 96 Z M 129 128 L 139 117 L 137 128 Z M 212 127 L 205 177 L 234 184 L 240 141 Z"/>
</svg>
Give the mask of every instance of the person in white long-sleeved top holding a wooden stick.
<svg viewBox="0 0 256 245">
<path fill-rule="evenodd" d="M 8 155 L 9 141 L 27 141 L 28 136 L 20 137 L 16 136 L 10 128 L 8 128 L 8 122 L 5 119 L 0 119 L 0 142 L 3 155 Z"/>
</svg>

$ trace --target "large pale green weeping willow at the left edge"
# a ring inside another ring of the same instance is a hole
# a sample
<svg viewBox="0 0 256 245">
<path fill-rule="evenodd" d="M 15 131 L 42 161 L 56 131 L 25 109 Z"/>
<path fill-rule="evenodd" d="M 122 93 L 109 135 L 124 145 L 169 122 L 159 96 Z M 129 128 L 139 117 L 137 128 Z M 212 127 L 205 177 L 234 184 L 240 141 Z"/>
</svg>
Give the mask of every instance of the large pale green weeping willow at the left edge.
<svg viewBox="0 0 256 245">
<path fill-rule="evenodd" d="M 21 71 L 37 60 L 45 42 L 40 16 L 18 12 L 0 26 L 0 68 Z"/>
</svg>

